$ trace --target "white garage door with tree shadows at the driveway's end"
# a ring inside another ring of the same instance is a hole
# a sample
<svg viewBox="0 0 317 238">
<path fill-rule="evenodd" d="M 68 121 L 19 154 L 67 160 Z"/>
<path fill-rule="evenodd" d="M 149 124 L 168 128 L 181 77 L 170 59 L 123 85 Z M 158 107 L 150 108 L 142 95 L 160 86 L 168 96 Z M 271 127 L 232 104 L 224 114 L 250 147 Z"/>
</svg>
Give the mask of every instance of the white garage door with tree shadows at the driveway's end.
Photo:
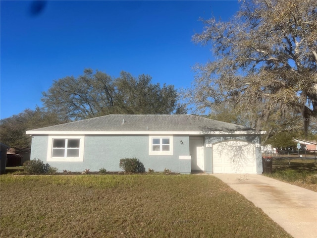
<svg viewBox="0 0 317 238">
<path fill-rule="evenodd" d="M 223 141 L 212 145 L 214 174 L 256 174 L 255 144 Z"/>
</svg>

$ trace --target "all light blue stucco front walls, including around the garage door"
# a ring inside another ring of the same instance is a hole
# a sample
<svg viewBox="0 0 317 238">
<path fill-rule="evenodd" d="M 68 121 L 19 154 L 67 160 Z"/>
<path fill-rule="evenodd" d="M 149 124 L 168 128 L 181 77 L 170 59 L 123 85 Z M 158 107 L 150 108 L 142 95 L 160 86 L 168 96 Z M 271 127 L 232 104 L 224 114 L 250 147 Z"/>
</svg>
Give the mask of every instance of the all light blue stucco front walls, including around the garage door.
<svg viewBox="0 0 317 238">
<path fill-rule="evenodd" d="M 71 135 L 69 135 L 71 136 Z M 47 162 L 49 139 L 46 135 L 35 135 L 32 138 L 31 159 L 40 159 L 56 167 L 58 171 L 68 170 L 82 172 L 85 169 L 99 171 L 122 171 L 120 159 L 137 158 L 146 171 L 150 168 L 156 172 L 169 169 L 173 172 L 189 174 L 191 160 L 189 136 L 173 135 L 173 155 L 149 155 L 149 135 L 86 135 L 84 139 L 83 162 Z M 255 144 L 256 172 L 262 174 L 262 154 L 260 135 L 208 135 L 204 139 L 204 169 L 213 173 L 212 144 L 227 140 L 240 140 Z"/>
</svg>

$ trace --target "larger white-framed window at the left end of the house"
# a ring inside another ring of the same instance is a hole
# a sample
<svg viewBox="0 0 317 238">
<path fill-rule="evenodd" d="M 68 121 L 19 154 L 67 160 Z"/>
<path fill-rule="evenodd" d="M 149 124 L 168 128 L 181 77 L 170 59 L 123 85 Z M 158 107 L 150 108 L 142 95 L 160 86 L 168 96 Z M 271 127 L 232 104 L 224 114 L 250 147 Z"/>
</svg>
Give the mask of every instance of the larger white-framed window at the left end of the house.
<svg viewBox="0 0 317 238">
<path fill-rule="evenodd" d="M 49 136 L 47 161 L 82 162 L 84 136 Z"/>
</svg>

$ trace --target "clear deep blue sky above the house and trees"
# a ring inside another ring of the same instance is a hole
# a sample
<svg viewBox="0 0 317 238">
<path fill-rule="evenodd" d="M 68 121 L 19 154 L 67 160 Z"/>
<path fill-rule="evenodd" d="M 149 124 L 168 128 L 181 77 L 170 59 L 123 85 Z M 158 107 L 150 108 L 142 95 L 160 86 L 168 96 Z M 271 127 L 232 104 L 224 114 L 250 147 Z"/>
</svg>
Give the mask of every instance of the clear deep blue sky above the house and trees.
<svg viewBox="0 0 317 238">
<path fill-rule="evenodd" d="M 189 88 L 192 66 L 211 59 L 191 37 L 199 17 L 227 20 L 235 1 L 0 2 L 0 118 L 42 106 L 42 92 L 85 68 L 117 77 L 149 74 L 153 83 Z"/>
</svg>

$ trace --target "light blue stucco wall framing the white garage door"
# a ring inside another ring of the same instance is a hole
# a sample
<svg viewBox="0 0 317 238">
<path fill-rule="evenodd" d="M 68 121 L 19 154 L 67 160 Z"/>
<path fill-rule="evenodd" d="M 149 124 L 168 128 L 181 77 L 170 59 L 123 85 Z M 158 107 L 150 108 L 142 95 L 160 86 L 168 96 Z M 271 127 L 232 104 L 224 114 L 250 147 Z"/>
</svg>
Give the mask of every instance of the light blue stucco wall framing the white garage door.
<svg viewBox="0 0 317 238">
<path fill-rule="evenodd" d="M 212 144 L 227 140 L 240 140 L 255 144 L 256 153 L 256 172 L 262 174 L 262 153 L 260 135 L 235 135 L 235 136 L 206 136 L 205 137 L 205 171 L 208 174 L 213 173 L 212 164 Z"/>
</svg>

